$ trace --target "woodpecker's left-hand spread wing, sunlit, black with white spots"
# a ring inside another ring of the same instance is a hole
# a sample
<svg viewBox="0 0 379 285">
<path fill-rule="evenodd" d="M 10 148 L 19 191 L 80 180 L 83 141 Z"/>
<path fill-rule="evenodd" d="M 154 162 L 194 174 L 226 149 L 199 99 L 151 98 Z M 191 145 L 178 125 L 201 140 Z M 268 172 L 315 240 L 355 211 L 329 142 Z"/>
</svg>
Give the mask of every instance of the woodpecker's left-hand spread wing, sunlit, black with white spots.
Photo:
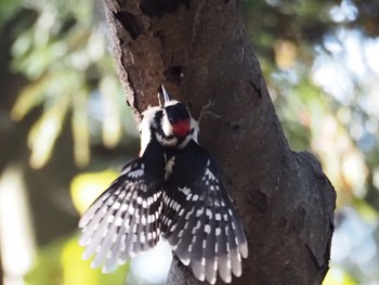
<svg viewBox="0 0 379 285">
<path fill-rule="evenodd" d="M 157 244 L 164 177 L 165 154 L 153 140 L 83 215 L 80 244 L 84 259 L 95 254 L 93 268 L 113 271 Z"/>
</svg>

